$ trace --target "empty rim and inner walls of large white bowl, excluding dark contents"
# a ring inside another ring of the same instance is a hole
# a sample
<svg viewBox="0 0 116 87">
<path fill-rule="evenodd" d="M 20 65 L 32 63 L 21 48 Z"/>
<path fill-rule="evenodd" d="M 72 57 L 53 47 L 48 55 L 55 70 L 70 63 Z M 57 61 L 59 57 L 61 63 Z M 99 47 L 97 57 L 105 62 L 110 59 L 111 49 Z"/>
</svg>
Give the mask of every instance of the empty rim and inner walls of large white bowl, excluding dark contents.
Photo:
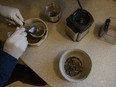
<svg viewBox="0 0 116 87">
<path fill-rule="evenodd" d="M 70 76 L 65 72 L 64 65 L 65 65 L 66 60 L 69 57 L 77 57 L 81 61 L 81 64 L 82 64 L 82 71 L 80 71 L 80 73 L 78 73 L 75 76 Z M 66 80 L 71 81 L 71 82 L 77 82 L 80 79 L 86 78 L 91 71 L 91 67 L 92 67 L 92 62 L 91 62 L 89 55 L 80 49 L 72 49 L 72 50 L 68 50 L 64 52 L 59 61 L 59 70 L 62 76 Z"/>
</svg>

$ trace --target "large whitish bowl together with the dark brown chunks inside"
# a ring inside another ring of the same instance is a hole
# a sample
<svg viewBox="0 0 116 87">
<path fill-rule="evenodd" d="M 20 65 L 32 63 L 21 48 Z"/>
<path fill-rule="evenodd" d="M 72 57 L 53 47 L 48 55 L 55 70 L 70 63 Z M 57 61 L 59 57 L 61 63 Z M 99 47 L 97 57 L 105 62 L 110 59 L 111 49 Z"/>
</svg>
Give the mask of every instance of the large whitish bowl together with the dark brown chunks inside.
<svg viewBox="0 0 116 87">
<path fill-rule="evenodd" d="M 62 76 L 70 82 L 87 78 L 91 67 L 92 62 L 89 55 L 80 49 L 64 52 L 59 61 L 59 70 Z"/>
</svg>

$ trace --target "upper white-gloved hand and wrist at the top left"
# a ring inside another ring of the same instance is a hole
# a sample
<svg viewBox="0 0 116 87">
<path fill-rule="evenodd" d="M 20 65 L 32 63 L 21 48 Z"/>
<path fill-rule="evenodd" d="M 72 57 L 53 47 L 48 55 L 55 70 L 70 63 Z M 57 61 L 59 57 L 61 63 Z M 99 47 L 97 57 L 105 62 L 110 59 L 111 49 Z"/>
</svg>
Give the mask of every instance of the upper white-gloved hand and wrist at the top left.
<svg viewBox="0 0 116 87">
<path fill-rule="evenodd" d="M 23 25 L 23 17 L 17 8 L 0 5 L 0 15 L 14 20 L 19 25 Z"/>
</svg>

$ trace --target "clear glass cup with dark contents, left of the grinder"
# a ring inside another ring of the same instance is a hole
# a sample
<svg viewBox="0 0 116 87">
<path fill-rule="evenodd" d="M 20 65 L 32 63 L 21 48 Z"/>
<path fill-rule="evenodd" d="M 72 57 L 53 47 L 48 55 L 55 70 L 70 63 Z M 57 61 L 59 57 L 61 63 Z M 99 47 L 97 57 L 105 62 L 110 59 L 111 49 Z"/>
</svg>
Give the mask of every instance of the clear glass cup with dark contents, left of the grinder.
<svg viewBox="0 0 116 87">
<path fill-rule="evenodd" d="M 61 17 L 61 8 L 55 2 L 52 2 L 50 5 L 46 5 L 45 15 L 48 21 L 58 22 Z"/>
</svg>

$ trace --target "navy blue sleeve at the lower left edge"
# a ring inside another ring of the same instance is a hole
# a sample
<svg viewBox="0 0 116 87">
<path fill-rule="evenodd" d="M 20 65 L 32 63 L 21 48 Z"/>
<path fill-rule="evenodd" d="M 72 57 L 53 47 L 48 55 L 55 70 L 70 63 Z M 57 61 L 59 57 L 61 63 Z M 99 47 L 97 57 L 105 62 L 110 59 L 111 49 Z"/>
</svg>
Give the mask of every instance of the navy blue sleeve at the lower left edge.
<svg viewBox="0 0 116 87">
<path fill-rule="evenodd" d="M 17 59 L 2 51 L 0 48 L 0 87 L 3 87 L 8 81 L 16 64 Z"/>
</svg>

